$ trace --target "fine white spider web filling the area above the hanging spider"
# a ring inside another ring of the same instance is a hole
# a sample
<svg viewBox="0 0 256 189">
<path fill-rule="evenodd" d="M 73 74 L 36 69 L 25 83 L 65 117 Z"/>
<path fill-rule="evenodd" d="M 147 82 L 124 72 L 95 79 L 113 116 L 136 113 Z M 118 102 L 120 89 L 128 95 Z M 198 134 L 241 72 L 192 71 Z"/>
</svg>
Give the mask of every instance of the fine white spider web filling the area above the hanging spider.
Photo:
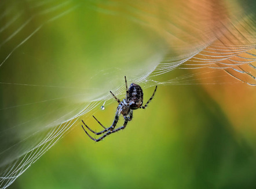
<svg viewBox="0 0 256 189">
<path fill-rule="evenodd" d="M 142 88 L 256 85 L 252 3 L 25 2 L 0 5 L 0 188 L 112 103 L 109 90 L 125 95 L 124 75 Z M 196 71 L 159 78 L 177 69 Z"/>
</svg>

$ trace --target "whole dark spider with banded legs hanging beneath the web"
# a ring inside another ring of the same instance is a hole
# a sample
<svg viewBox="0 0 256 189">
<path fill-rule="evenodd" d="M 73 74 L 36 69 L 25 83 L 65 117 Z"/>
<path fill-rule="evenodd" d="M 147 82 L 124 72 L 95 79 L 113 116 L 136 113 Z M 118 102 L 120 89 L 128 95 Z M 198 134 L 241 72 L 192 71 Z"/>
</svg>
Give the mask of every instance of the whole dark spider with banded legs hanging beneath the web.
<svg viewBox="0 0 256 189">
<path fill-rule="evenodd" d="M 101 124 L 94 116 L 93 118 L 96 119 L 96 121 L 101 125 L 101 127 L 104 128 L 103 131 L 100 132 L 96 132 L 93 131 L 91 128 L 89 128 L 85 122 L 83 122 L 83 124 L 94 134 L 96 135 L 101 135 L 104 134 L 103 136 L 101 136 L 100 138 L 96 139 L 93 138 L 91 135 L 89 135 L 89 133 L 87 133 L 87 131 L 85 130 L 85 128 L 82 125 L 83 130 L 85 131 L 85 133 L 91 138 L 93 139 L 93 141 L 101 141 L 103 140 L 105 137 L 107 137 L 108 135 L 112 134 L 112 133 L 116 133 L 116 131 L 122 130 L 126 127 L 127 123 L 131 121 L 131 119 L 133 119 L 133 110 L 134 109 L 138 109 L 138 108 L 142 108 L 145 109 L 148 106 L 148 103 L 153 99 L 153 96 L 155 95 L 156 92 L 156 88 L 158 88 L 158 86 L 156 86 L 152 96 L 150 97 L 150 99 L 147 101 L 147 103 L 143 106 L 143 92 L 142 89 L 140 87 L 140 85 L 136 85 L 136 84 L 131 84 L 129 89 L 127 88 L 127 81 L 126 81 L 126 77 L 125 77 L 125 85 L 126 85 L 126 97 L 125 99 L 123 99 L 123 101 L 120 101 L 118 98 L 116 98 L 115 94 L 113 94 L 111 91 L 110 93 L 113 95 L 113 97 L 115 98 L 116 101 L 118 101 L 118 108 L 116 109 L 116 115 L 115 115 L 115 119 L 114 122 L 112 123 L 112 125 L 108 128 L 104 127 L 103 124 Z M 118 123 L 119 120 L 119 116 L 120 114 L 123 115 L 123 118 L 125 118 L 125 123 L 123 123 L 123 126 L 116 128 L 116 123 Z"/>
</svg>

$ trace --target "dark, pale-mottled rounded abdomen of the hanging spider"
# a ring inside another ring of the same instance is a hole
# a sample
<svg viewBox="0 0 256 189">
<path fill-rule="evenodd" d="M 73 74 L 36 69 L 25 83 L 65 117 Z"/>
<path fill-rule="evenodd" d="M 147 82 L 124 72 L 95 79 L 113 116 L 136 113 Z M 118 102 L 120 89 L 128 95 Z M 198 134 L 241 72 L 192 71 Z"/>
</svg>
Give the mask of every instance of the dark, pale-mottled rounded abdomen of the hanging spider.
<svg viewBox="0 0 256 189">
<path fill-rule="evenodd" d="M 131 84 L 128 89 L 130 109 L 138 109 L 143 103 L 143 92 L 140 85 Z"/>
</svg>

